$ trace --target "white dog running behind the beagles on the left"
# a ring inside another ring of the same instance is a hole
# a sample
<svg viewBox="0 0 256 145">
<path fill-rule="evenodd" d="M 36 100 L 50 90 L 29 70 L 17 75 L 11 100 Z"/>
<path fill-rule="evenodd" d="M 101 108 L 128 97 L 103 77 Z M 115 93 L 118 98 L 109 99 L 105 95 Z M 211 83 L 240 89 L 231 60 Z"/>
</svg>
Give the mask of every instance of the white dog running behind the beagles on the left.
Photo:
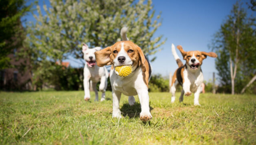
<svg viewBox="0 0 256 145">
<path fill-rule="evenodd" d="M 89 49 L 85 43 L 83 43 L 82 46 L 84 60 L 86 61 L 86 64 L 84 66 L 84 100 L 86 101 L 90 100 L 90 83 L 92 89 L 95 92 L 95 101 L 98 101 L 98 90 L 96 89 L 96 85 L 99 81 L 99 90 L 102 92 L 100 101 L 105 100 L 105 92 L 108 85 L 108 70 L 106 69 L 106 67 L 98 67 L 96 65 L 94 55 L 94 52 L 99 51 L 100 49 L 101 47 Z"/>
</svg>

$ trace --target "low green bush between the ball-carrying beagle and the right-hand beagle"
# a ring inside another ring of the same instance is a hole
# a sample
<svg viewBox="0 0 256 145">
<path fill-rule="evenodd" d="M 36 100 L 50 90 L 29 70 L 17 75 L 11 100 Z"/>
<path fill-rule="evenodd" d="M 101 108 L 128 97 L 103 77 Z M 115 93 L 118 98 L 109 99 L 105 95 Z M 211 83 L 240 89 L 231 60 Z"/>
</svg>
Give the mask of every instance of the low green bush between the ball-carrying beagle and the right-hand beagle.
<svg viewBox="0 0 256 145">
<path fill-rule="evenodd" d="M 152 75 L 148 84 L 149 92 L 169 92 L 169 78 L 161 74 Z"/>
</svg>

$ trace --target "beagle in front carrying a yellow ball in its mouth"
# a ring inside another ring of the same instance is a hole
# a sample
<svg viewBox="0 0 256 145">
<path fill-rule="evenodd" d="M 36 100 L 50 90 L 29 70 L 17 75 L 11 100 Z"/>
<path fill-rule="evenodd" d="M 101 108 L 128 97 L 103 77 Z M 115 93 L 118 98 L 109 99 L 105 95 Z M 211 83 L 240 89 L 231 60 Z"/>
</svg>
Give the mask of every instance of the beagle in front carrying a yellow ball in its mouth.
<svg viewBox="0 0 256 145">
<path fill-rule="evenodd" d="M 110 70 L 110 82 L 113 96 L 113 118 L 121 118 L 119 101 L 121 94 L 129 96 L 128 102 L 134 105 L 134 95 L 138 94 L 141 112 L 140 120 L 148 121 L 152 118 L 149 108 L 148 81 L 151 75 L 151 67 L 142 49 L 128 41 L 126 28 L 121 30 L 121 37 L 125 41 L 118 41 L 110 47 L 95 52 L 96 62 L 99 67 L 112 65 Z M 128 76 L 118 76 L 115 67 L 132 65 L 132 72 Z"/>
</svg>

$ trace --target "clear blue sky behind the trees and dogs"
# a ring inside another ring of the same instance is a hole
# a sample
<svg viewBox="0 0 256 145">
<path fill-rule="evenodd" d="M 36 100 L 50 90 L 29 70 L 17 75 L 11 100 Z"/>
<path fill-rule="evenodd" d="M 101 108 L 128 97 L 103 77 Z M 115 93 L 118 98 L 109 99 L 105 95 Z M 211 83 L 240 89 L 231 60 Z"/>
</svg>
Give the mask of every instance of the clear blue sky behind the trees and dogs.
<svg viewBox="0 0 256 145">
<path fill-rule="evenodd" d="M 210 51 L 208 45 L 214 33 L 220 29 L 235 3 L 236 0 L 152 0 L 156 14 L 162 12 L 162 25 L 154 36 L 164 35 L 164 38 L 167 38 L 166 43 L 161 46 L 163 50 L 154 55 L 157 59 L 151 63 L 153 74 L 168 76 L 177 69 L 171 53 L 172 43 L 175 46 L 182 45 L 185 51 Z M 48 0 L 39 0 L 38 4 L 42 7 L 43 4 L 49 6 L 50 3 Z M 27 21 L 34 21 L 32 15 L 24 18 Z M 177 53 L 182 58 L 180 52 Z M 79 66 L 74 61 L 70 63 L 73 67 Z M 213 72 L 217 73 L 214 58 L 208 57 L 203 61 L 202 71 L 204 80 L 207 81 L 212 78 Z"/>
</svg>

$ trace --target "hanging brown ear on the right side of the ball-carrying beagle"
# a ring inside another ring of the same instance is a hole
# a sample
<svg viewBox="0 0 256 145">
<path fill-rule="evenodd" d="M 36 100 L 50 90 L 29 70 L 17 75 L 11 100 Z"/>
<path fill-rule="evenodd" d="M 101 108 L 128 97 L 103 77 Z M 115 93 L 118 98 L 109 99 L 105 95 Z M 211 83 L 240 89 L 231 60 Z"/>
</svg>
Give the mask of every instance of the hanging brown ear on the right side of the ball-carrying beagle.
<svg viewBox="0 0 256 145">
<path fill-rule="evenodd" d="M 140 47 L 137 48 L 139 56 L 140 56 L 140 65 L 141 65 L 141 69 L 142 69 L 142 76 L 143 76 L 143 80 L 145 82 L 145 84 L 148 87 L 148 81 L 149 81 L 149 63 L 143 53 L 143 51 L 141 50 Z"/>
</svg>

